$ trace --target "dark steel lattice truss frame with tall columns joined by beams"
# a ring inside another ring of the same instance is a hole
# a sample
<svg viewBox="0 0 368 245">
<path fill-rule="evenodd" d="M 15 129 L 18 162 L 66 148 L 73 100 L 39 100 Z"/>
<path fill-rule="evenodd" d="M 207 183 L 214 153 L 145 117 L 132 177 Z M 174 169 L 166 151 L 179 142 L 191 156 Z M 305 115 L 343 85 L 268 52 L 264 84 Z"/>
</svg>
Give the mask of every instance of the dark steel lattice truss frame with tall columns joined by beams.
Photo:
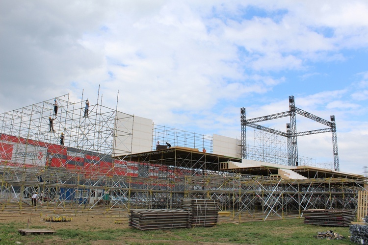
<svg viewBox="0 0 368 245">
<path fill-rule="evenodd" d="M 296 114 L 309 118 L 317 123 L 324 124 L 328 126 L 328 128 L 297 132 Z M 290 120 L 290 122 L 287 123 L 286 125 L 286 129 L 287 129 L 286 132 L 271 129 L 271 128 L 257 124 L 260 122 L 284 118 L 284 117 L 289 117 L 289 120 Z M 331 132 L 332 133 L 333 155 L 334 155 L 334 169 L 335 171 L 340 171 L 335 116 L 331 116 L 330 119 L 331 119 L 331 122 L 295 107 L 295 101 L 294 101 L 293 96 L 289 96 L 289 111 L 280 112 L 280 113 L 276 113 L 272 115 L 267 115 L 267 116 L 262 116 L 262 117 L 252 118 L 252 119 L 247 120 L 246 115 L 245 115 L 245 108 L 242 107 L 240 109 L 242 158 L 244 159 L 247 158 L 247 155 L 246 155 L 246 127 L 247 126 L 286 137 L 287 145 L 288 145 L 288 165 L 289 166 L 298 166 L 299 164 L 298 163 L 298 145 L 297 145 L 298 136 Z"/>
</svg>

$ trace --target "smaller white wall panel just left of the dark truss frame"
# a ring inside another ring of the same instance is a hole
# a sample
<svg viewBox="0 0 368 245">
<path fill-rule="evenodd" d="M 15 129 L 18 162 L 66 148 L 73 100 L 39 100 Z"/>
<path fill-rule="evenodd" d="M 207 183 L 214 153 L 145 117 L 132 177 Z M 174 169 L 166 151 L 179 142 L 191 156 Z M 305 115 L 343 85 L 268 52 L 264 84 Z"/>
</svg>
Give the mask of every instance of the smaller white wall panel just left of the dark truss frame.
<svg viewBox="0 0 368 245">
<path fill-rule="evenodd" d="M 237 139 L 217 134 L 213 135 L 213 154 L 240 158 L 240 152 L 241 148 L 237 146 Z"/>
</svg>

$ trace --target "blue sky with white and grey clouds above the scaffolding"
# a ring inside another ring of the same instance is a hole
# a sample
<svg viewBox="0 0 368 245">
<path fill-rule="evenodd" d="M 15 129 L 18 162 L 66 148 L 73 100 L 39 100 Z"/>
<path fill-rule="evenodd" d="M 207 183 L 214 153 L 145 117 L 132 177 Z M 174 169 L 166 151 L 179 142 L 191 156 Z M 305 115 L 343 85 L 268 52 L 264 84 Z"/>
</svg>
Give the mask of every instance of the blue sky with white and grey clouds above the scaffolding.
<svg viewBox="0 0 368 245">
<path fill-rule="evenodd" d="M 0 0 L 0 113 L 102 96 L 158 125 L 240 138 L 241 107 L 280 113 L 294 96 L 335 116 L 342 172 L 368 166 L 367 58 L 367 0 Z M 298 137 L 298 153 L 333 162 L 331 133 Z"/>
</svg>

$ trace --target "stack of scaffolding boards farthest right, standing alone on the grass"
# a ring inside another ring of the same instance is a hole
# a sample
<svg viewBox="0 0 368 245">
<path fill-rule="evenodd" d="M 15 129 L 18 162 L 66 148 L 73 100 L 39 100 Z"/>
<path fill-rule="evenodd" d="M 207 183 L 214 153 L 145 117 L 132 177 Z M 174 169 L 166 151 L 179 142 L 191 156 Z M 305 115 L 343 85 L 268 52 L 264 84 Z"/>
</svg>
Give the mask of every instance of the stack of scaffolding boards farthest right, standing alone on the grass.
<svg viewBox="0 0 368 245">
<path fill-rule="evenodd" d="M 304 223 L 327 225 L 327 226 L 349 226 L 355 217 L 352 210 L 342 209 L 306 209 L 304 210 Z"/>
</svg>

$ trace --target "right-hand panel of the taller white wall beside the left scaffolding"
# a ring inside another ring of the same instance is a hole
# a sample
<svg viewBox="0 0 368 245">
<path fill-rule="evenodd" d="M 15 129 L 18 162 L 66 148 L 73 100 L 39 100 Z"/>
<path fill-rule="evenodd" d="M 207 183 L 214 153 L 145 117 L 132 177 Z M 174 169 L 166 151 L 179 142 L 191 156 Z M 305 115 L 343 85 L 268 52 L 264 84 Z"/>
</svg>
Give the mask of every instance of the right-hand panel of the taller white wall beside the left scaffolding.
<svg viewBox="0 0 368 245">
<path fill-rule="evenodd" d="M 151 119 L 134 116 L 131 153 L 151 151 L 152 133 L 153 121 Z"/>
</svg>

